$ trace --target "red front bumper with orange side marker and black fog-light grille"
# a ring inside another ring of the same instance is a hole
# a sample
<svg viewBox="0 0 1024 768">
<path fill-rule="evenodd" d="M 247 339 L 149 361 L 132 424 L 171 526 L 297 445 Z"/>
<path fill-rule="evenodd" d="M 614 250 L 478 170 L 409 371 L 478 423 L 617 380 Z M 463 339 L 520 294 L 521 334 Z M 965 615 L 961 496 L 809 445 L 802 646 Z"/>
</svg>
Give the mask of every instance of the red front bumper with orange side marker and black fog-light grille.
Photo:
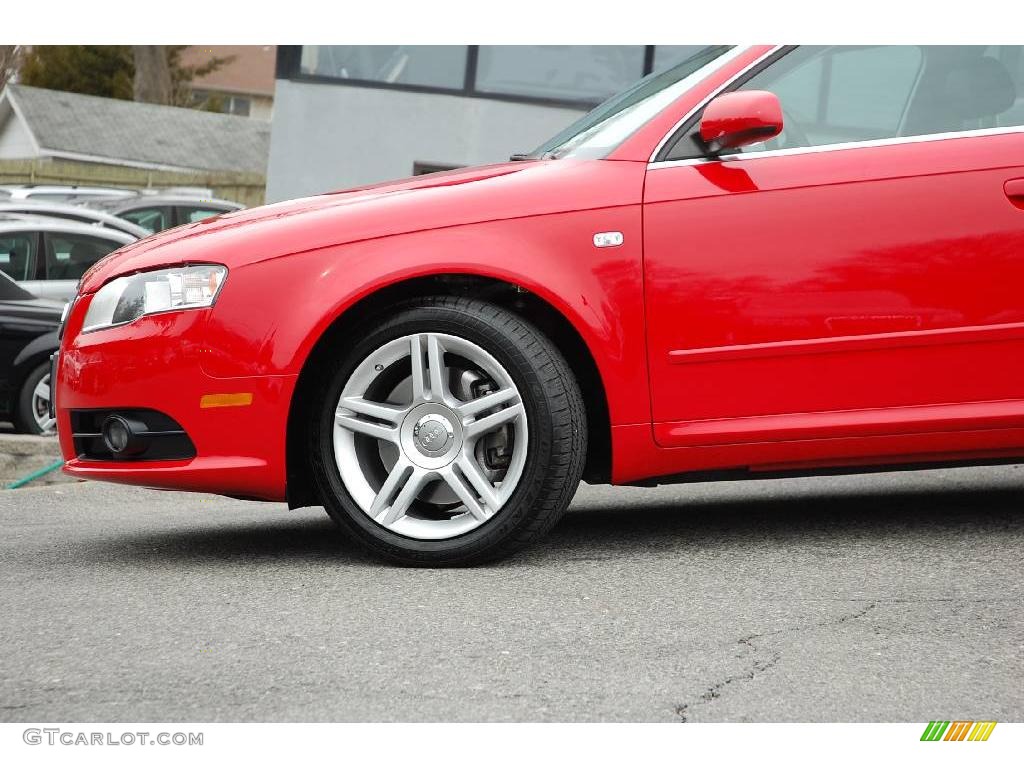
<svg viewBox="0 0 1024 768">
<path fill-rule="evenodd" d="M 216 378 L 203 371 L 211 309 L 142 317 L 81 333 L 91 296 L 67 319 L 54 402 L 65 472 L 150 487 L 283 501 L 288 409 L 296 376 Z M 252 394 L 245 406 L 202 408 L 204 395 Z M 191 459 L 86 460 L 72 437 L 71 412 L 152 409 L 176 421 L 196 446 Z"/>
</svg>

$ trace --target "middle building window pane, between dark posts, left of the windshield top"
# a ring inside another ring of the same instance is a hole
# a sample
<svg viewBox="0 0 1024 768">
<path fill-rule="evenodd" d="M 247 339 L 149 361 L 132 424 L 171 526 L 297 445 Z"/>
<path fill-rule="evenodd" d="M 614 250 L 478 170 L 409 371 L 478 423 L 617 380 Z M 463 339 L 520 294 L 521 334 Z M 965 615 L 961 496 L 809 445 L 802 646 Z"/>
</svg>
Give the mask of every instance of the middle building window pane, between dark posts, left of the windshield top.
<svg viewBox="0 0 1024 768">
<path fill-rule="evenodd" d="M 642 45 L 481 45 L 476 90 L 601 101 L 643 77 Z"/>
</svg>

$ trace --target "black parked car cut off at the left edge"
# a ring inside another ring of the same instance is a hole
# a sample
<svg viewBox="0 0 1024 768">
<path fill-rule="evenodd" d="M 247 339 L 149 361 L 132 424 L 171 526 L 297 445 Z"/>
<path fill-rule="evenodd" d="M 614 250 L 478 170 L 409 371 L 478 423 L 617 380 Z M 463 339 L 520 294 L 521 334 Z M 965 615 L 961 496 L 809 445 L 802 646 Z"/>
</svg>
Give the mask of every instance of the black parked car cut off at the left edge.
<svg viewBox="0 0 1024 768">
<path fill-rule="evenodd" d="M 19 432 L 46 434 L 56 426 L 49 414 L 50 354 L 62 309 L 0 272 L 0 420 Z"/>
</svg>

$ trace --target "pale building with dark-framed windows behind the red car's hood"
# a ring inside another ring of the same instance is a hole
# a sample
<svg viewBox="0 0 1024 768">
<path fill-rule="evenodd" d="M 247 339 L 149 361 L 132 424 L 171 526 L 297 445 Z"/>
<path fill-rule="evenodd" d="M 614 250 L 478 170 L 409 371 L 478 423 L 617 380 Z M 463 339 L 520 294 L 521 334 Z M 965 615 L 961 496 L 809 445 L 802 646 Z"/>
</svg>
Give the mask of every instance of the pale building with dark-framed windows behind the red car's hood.
<svg viewBox="0 0 1024 768">
<path fill-rule="evenodd" d="M 702 46 L 278 46 L 267 201 L 529 152 Z"/>
</svg>

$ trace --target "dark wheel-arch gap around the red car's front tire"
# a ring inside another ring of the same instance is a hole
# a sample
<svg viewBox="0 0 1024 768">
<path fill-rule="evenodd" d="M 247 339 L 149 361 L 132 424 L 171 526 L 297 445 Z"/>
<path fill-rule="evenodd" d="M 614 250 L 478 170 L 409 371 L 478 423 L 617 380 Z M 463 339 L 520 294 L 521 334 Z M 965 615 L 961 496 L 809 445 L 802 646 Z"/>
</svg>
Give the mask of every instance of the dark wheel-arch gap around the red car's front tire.
<svg viewBox="0 0 1024 768">
<path fill-rule="evenodd" d="M 311 393 L 329 360 L 329 350 L 361 322 L 384 314 L 398 302 L 436 295 L 468 295 L 498 304 L 537 326 L 565 357 L 577 377 L 587 410 L 590 439 L 584 479 L 607 482 L 611 476 L 611 420 L 600 369 L 572 322 L 545 298 L 508 281 L 471 273 L 443 273 L 399 280 L 361 297 L 321 333 L 302 364 L 288 414 L 287 496 L 291 508 L 319 504 L 304 450 L 302 425 L 310 417 Z"/>
</svg>

